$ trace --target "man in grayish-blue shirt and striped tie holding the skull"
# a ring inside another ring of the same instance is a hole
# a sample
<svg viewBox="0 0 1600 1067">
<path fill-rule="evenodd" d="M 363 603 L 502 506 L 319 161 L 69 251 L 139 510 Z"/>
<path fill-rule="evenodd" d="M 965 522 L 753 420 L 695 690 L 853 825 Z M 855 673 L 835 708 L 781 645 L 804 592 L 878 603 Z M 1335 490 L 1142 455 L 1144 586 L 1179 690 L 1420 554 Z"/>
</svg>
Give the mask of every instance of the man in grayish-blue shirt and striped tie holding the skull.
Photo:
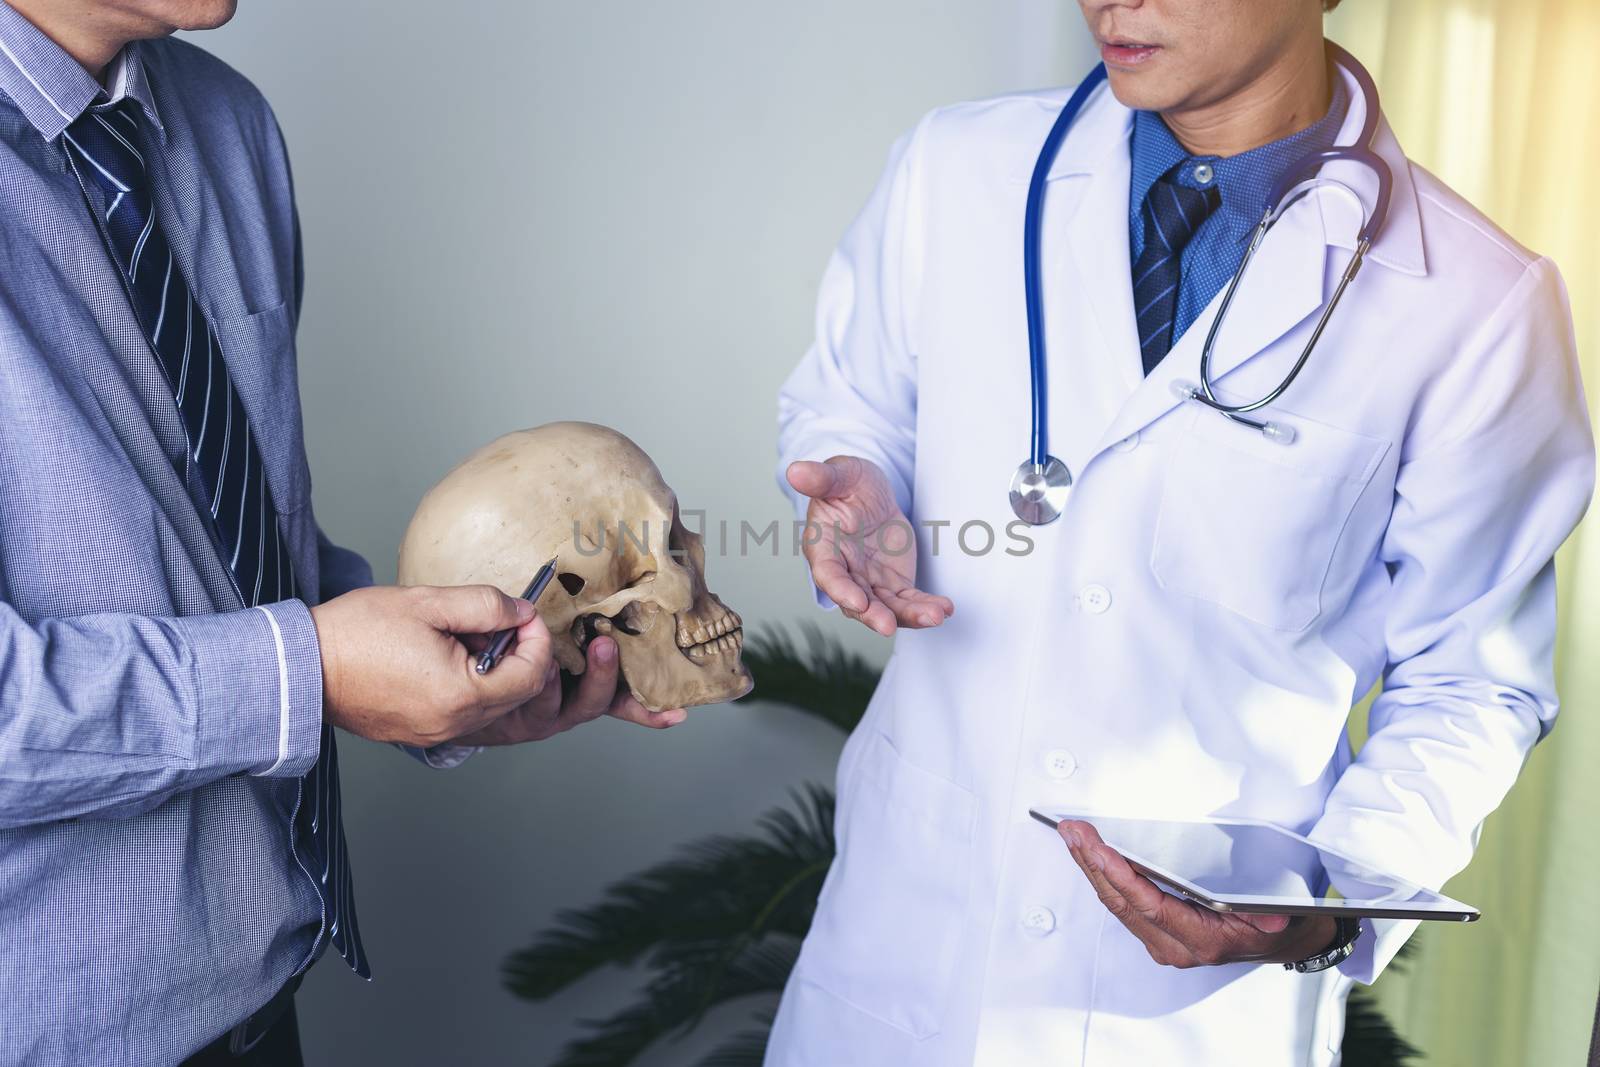
<svg viewBox="0 0 1600 1067">
<path fill-rule="evenodd" d="M 374 589 L 317 528 L 283 139 L 165 40 L 232 13 L 0 0 L 6 1065 L 299 1062 L 299 976 L 370 974 L 333 726 L 448 766 L 683 715 L 618 693 L 608 638 L 563 702 L 530 605 Z"/>
</svg>

